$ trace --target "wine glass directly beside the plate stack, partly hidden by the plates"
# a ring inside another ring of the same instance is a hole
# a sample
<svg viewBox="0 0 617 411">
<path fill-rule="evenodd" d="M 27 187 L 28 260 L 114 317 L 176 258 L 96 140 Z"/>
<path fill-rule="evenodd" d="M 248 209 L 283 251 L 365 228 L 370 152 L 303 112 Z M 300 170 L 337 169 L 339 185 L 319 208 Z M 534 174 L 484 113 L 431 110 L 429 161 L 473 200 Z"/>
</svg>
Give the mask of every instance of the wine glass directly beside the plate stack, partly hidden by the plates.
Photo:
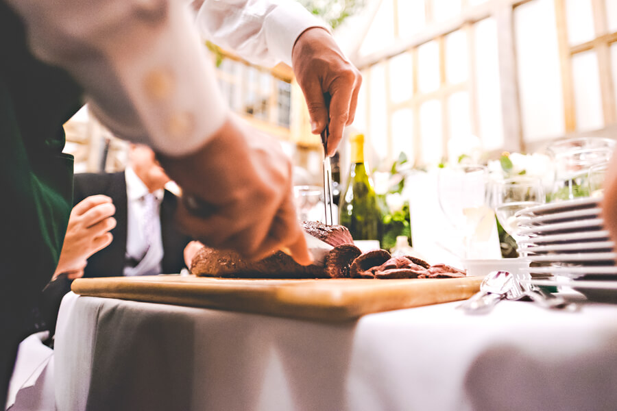
<svg viewBox="0 0 617 411">
<path fill-rule="evenodd" d="M 542 180 L 539 178 L 520 176 L 495 183 L 495 214 L 505 232 L 517 242 L 521 236 L 514 214 L 525 208 L 539 206 L 545 199 Z"/>
</svg>

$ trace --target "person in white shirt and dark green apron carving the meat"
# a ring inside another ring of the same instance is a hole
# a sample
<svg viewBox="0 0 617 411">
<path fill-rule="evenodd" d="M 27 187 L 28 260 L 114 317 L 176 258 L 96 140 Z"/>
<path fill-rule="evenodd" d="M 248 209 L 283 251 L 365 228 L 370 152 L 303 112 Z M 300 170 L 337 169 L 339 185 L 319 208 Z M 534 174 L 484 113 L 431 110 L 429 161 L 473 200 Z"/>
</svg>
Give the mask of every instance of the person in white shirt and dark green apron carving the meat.
<svg viewBox="0 0 617 411">
<path fill-rule="evenodd" d="M 0 403 L 28 312 L 55 271 L 72 208 L 62 124 L 83 96 L 115 135 L 149 145 L 182 188 L 180 227 L 206 245 L 309 264 L 274 138 L 232 115 L 197 29 L 256 64 L 291 64 L 329 155 L 361 76 L 328 29 L 289 1 L 0 0 Z M 332 100 L 326 107 L 324 93 Z"/>
</svg>

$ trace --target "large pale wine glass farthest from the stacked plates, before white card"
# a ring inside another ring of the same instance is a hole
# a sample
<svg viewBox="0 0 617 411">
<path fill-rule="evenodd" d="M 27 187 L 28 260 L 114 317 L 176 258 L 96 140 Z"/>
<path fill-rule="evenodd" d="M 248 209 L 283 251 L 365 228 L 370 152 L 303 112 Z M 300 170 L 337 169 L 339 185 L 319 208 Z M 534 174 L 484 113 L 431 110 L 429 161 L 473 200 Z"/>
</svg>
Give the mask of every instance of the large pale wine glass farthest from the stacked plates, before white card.
<svg viewBox="0 0 617 411">
<path fill-rule="evenodd" d="M 437 201 L 462 236 L 463 258 L 470 258 L 472 242 L 488 240 L 494 227 L 494 212 L 487 204 L 487 177 L 481 165 L 449 166 L 437 175 Z"/>
</svg>

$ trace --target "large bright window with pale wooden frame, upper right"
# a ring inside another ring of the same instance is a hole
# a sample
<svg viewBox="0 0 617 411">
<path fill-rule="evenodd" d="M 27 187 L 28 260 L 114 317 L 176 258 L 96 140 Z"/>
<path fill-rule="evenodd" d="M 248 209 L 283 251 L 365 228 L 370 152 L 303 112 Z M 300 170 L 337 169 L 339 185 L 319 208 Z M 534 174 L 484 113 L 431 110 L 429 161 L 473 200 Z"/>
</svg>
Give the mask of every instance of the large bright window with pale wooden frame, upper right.
<svg viewBox="0 0 617 411">
<path fill-rule="evenodd" d="M 382 0 L 352 60 L 380 160 L 616 128 L 617 0 Z"/>
</svg>

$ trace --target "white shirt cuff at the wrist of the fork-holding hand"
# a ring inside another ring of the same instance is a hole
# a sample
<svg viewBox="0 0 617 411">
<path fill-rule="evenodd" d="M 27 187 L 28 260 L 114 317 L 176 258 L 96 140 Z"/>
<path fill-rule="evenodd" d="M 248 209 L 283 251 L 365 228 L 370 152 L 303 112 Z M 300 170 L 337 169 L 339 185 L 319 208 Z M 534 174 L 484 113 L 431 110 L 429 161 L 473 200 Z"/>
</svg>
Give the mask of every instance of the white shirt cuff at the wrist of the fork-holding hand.
<svg viewBox="0 0 617 411">
<path fill-rule="evenodd" d="M 291 66 L 291 51 L 295 40 L 298 40 L 300 34 L 306 29 L 321 27 L 331 33 L 330 28 L 323 21 L 311 14 L 300 3 L 293 1 L 278 5 L 268 14 L 264 26 L 271 53 L 289 66 Z"/>
</svg>

